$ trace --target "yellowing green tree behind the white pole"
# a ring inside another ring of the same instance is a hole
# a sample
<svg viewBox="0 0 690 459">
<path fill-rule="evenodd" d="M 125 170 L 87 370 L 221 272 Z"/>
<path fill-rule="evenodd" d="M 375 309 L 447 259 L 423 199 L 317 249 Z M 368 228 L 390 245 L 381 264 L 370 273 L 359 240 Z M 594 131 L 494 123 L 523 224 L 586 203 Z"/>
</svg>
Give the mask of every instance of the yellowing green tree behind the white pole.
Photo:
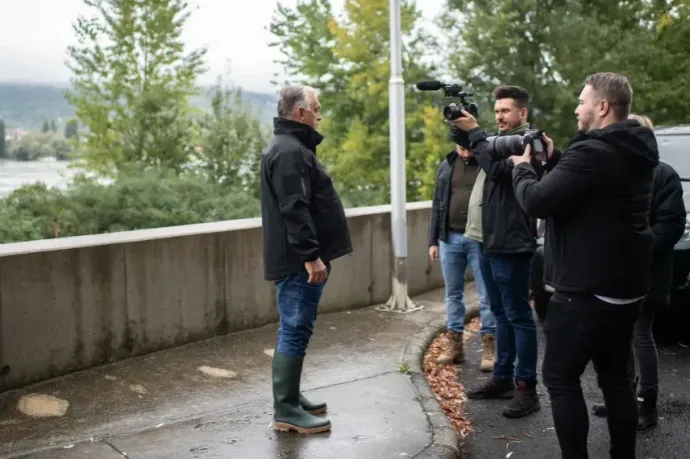
<svg viewBox="0 0 690 459">
<path fill-rule="evenodd" d="M 276 38 L 272 46 L 283 54 L 279 63 L 288 77 L 320 91 L 325 140 L 318 156 L 350 206 L 389 202 L 388 4 L 346 0 L 345 14 L 337 19 L 328 0 L 301 0 L 294 8 L 279 4 L 270 27 Z M 424 59 L 434 49 L 432 40 L 418 26 L 421 14 L 414 1 L 402 2 L 401 16 L 403 71 L 410 85 L 405 98 L 407 198 L 416 200 L 423 197 L 427 169 L 435 172 L 452 144 L 439 112 L 430 118 L 431 96 L 415 92 L 411 84 L 434 73 Z"/>
</svg>

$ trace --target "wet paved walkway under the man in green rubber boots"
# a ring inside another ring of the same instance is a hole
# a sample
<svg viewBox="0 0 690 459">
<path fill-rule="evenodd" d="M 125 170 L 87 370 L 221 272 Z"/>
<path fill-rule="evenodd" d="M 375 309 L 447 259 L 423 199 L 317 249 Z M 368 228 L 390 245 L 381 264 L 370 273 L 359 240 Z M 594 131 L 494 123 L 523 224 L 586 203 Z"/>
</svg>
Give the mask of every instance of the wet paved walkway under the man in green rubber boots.
<svg viewBox="0 0 690 459">
<path fill-rule="evenodd" d="M 469 292 L 470 302 L 475 297 Z M 433 416 L 400 370 L 411 337 L 443 316 L 442 293 L 416 300 L 426 308 L 412 314 L 367 308 L 320 316 L 303 388 L 328 402 L 328 434 L 269 427 L 273 325 L 0 394 L 0 457 L 434 457 Z M 30 415 L 41 410 L 64 415 Z"/>
</svg>

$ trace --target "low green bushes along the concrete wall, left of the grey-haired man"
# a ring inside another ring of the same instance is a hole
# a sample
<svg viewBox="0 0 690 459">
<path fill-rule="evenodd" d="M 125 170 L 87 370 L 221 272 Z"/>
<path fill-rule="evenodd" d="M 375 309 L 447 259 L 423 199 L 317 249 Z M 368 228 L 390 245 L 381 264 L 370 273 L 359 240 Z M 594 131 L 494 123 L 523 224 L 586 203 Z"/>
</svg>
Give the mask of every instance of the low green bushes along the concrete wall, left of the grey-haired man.
<svg viewBox="0 0 690 459">
<path fill-rule="evenodd" d="M 24 186 L 0 201 L 0 243 L 255 217 L 258 200 L 193 174 L 124 168 L 112 184 Z"/>
</svg>

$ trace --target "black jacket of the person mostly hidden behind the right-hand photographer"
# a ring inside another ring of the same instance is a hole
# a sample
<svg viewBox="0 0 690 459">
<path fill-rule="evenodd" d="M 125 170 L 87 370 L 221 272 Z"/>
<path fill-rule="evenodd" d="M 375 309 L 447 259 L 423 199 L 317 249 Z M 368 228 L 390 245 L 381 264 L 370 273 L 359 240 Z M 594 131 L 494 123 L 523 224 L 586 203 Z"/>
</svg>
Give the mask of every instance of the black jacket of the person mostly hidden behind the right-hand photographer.
<svg viewBox="0 0 690 459">
<path fill-rule="evenodd" d="M 654 253 L 647 298 L 655 303 L 670 302 L 673 248 L 685 231 L 685 215 L 680 177 L 671 166 L 660 161 L 654 168 L 652 208 L 649 214 Z"/>
</svg>

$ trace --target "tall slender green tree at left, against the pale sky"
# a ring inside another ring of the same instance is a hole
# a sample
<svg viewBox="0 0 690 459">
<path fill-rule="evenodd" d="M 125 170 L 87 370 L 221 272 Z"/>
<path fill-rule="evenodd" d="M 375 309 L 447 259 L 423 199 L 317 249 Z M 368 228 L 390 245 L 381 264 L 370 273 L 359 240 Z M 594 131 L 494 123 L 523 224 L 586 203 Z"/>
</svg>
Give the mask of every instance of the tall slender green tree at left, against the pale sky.
<svg viewBox="0 0 690 459">
<path fill-rule="evenodd" d="M 184 0 L 84 0 L 74 25 L 67 98 L 87 128 L 84 167 L 111 175 L 130 163 L 181 170 L 193 149 L 189 96 L 206 50 L 185 52 Z"/>
</svg>

